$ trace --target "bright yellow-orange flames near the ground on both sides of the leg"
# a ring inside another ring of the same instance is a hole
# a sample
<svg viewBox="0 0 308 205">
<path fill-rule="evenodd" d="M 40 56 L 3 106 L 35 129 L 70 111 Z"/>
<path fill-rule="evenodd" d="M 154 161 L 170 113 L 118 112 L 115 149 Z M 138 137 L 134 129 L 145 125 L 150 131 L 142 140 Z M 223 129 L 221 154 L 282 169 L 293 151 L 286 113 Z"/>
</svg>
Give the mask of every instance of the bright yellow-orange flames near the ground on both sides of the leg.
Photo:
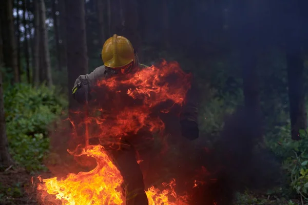
<svg viewBox="0 0 308 205">
<path fill-rule="evenodd" d="M 42 194 L 42 200 L 56 203 L 56 199 L 63 205 L 73 204 L 124 204 L 120 188 L 123 178 L 113 165 L 102 146 L 89 146 L 83 149 L 80 155 L 94 157 L 97 167 L 90 172 L 69 174 L 66 179 L 58 180 L 56 177 L 40 179 L 37 190 Z M 177 196 L 174 191 L 175 179 L 170 183 L 163 183 L 165 189 L 160 191 L 150 187 L 146 195 L 150 205 L 184 205 L 187 196 Z M 174 202 L 170 202 L 174 201 Z"/>
</svg>

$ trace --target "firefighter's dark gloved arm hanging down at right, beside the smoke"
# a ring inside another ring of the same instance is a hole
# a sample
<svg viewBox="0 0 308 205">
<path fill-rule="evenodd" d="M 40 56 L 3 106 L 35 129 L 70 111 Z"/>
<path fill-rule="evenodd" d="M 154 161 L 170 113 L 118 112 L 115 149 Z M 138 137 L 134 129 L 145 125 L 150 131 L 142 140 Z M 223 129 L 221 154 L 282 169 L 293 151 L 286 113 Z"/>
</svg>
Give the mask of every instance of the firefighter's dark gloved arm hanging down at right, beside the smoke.
<svg viewBox="0 0 308 205">
<path fill-rule="evenodd" d="M 192 84 L 186 94 L 185 104 L 180 115 L 182 135 L 190 140 L 199 137 L 198 128 L 198 104 L 199 95 L 196 84 Z"/>
</svg>

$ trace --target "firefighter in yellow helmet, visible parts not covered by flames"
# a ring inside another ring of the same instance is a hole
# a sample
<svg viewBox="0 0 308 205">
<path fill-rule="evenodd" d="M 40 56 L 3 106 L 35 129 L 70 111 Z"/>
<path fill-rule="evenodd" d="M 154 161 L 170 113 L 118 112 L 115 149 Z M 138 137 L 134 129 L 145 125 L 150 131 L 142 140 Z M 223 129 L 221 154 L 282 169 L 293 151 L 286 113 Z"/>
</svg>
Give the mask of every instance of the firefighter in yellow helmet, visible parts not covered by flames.
<svg viewBox="0 0 308 205">
<path fill-rule="evenodd" d="M 103 66 L 96 68 L 93 72 L 80 75 L 72 89 L 73 97 L 80 104 L 85 104 L 92 99 L 90 90 L 98 80 L 113 75 L 125 75 L 146 66 L 139 63 L 137 53 L 134 51 L 130 41 L 124 36 L 114 34 L 108 38 L 102 49 Z M 181 113 L 182 135 L 190 140 L 199 136 L 197 124 L 197 106 L 194 100 L 187 100 Z M 136 148 L 129 140 L 123 143 L 121 149 L 110 152 L 115 166 L 123 176 L 125 197 L 127 205 L 147 205 L 143 174 L 136 159 Z"/>
</svg>

